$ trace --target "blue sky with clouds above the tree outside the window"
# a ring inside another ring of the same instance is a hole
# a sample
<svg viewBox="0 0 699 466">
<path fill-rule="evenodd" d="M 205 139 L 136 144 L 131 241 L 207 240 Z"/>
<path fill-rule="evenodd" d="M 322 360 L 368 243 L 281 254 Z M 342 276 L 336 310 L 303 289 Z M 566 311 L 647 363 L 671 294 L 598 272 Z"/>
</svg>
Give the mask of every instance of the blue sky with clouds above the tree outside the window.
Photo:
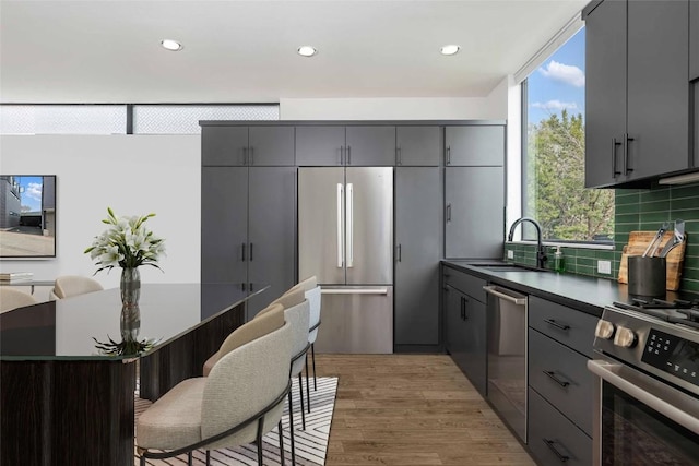
<svg viewBox="0 0 699 466">
<path fill-rule="evenodd" d="M 585 29 L 580 29 L 528 77 L 529 123 L 538 123 L 564 108 L 585 113 Z"/>
</svg>

